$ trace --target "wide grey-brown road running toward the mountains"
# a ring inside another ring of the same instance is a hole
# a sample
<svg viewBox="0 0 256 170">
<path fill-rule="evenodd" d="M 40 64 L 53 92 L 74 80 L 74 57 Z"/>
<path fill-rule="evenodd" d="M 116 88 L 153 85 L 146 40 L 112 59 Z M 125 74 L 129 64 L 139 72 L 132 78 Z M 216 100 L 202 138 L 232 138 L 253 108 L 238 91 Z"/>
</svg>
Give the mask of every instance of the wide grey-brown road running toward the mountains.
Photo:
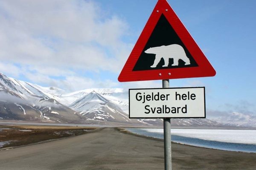
<svg viewBox="0 0 256 170">
<path fill-rule="evenodd" d="M 163 170 L 163 141 L 103 128 L 0 150 L 0 170 Z M 172 144 L 173 170 L 256 170 L 256 154 Z"/>
</svg>

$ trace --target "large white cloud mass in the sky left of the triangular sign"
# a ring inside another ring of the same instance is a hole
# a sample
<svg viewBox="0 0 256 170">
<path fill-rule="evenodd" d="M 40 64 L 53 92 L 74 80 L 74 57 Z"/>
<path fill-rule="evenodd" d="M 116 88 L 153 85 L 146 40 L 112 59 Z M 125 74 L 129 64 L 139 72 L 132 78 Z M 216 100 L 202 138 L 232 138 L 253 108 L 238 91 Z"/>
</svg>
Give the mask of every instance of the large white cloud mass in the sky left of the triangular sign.
<svg viewBox="0 0 256 170">
<path fill-rule="evenodd" d="M 93 1 L 3 0 L 0 23 L 0 71 L 15 78 L 23 74 L 35 83 L 61 81 L 52 76 L 65 77 L 64 84 L 73 77 L 76 83 L 77 70 L 119 73 L 131 49 L 122 42 L 127 23 L 104 15 Z M 79 80 L 81 87 L 92 87 L 94 81 Z"/>
</svg>

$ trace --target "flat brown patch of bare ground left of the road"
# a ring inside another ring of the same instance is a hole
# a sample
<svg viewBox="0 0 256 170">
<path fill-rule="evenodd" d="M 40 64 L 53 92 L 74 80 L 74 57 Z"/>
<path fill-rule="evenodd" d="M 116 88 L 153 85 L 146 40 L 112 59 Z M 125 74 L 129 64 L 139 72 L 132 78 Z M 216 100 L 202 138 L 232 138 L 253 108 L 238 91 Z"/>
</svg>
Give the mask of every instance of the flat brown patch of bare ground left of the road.
<svg viewBox="0 0 256 170">
<path fill-rule="evenodd" d="M 95 127 L 0 125 L 0 149 L 84 134 Z"/>
</svg>

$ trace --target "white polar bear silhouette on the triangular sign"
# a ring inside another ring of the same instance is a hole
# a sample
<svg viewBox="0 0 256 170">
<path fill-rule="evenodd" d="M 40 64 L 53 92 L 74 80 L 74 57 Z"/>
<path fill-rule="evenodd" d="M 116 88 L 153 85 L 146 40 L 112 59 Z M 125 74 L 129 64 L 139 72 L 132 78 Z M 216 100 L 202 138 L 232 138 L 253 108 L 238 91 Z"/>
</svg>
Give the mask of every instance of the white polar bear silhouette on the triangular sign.
<svg viewBox="0 0 256 170">
<path fill-rule="evenodd" d="M 172 66 L 179 65 L 179 59 L 182 59 L 185 62 L 185 65 L 190 64 L 190 60 L 186 56 L 183 47 L 178 44 L 151 47 L 144 52 L 147 54 L 156 54 L 154 64 L 150 66 L 151 68 L 157 67 L 157 64 L 160 62 L 161 58 L 164 60 L 164 65 L 162 67 L 167 67 L 169 65 L 169 58 L 173 58 Z"/>
</svg>

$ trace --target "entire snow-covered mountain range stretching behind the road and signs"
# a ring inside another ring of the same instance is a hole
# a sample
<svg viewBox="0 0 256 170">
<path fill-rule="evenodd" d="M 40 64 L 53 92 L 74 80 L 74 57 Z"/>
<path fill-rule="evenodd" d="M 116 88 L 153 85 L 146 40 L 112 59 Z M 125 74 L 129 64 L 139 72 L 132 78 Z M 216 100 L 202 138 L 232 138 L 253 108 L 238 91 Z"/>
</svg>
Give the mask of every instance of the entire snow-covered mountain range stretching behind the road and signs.
<svg viewBox="0 0 256 170">
<path fill-rule="evenodd" d="M 162 119 L 129 119 L 128 91 L 91 88 L 66 93 L 0 74 L 0 119 L 112 125 L 156 125 Z M 174 126 L 222 126 L 208 119 L 172 119 Z"/>
</svg>

